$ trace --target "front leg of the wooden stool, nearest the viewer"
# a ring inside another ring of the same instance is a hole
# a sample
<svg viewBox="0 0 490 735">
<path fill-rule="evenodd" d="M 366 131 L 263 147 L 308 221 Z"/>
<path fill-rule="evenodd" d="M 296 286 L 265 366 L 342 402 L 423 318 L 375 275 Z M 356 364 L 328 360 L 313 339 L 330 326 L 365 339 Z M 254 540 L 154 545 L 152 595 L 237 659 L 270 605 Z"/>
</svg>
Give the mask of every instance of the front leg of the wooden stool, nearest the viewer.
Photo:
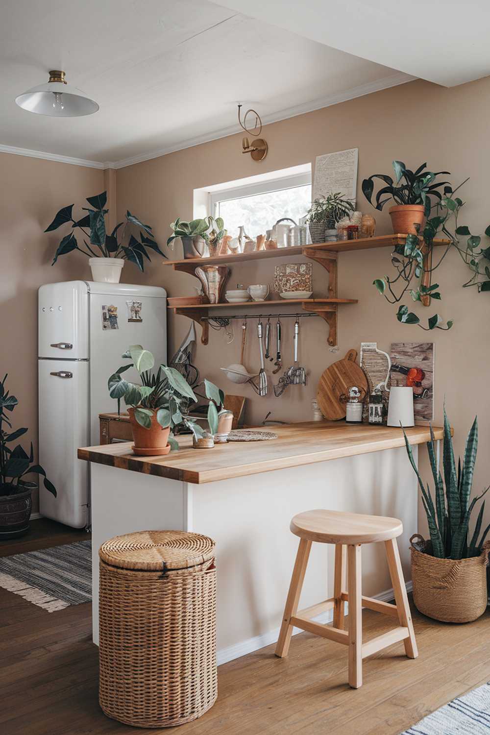
<svg viewBox="0 0 490 735">
<path fill-rule="evenodd" d="M 349 592 L 349 684 L 362 684 L 362 577 L 361 545 L 347 546 Z"/>
</svg>

